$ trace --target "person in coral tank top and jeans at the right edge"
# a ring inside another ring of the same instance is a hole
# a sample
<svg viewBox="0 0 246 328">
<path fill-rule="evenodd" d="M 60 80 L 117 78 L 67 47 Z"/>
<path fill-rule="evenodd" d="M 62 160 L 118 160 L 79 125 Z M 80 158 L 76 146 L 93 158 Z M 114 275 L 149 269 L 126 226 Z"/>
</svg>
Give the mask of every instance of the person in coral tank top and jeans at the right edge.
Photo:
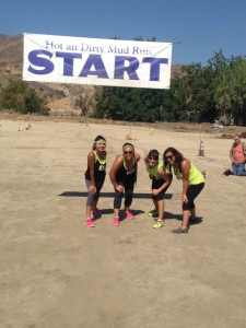
<svg viewBox="0 0 246 328">
<path fill-rule="evenodd" d="M 234 136 L 234 142 L 230 149 L 230 159 L 232 161 L 233 175 L 246 176 L 246 144 L 242 142 L 241 136 Z"/>
</svg>

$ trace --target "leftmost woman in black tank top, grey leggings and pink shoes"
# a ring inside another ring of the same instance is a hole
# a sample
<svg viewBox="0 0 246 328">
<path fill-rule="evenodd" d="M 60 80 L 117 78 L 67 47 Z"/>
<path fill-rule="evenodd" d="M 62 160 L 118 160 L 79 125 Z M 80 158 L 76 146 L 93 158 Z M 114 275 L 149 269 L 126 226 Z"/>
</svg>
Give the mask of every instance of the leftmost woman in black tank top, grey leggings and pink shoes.
<svg viewBox="0 0 246 328">
<path fill-rule="evenodd" d="M 87 186 L 86 219 L 87 226 L 94 227 L 93 215 L 101 215 L 97 209 L 99 191 L 104 185 L 106 176 L 106 140 L 103 136 L 97 136 L 94 140 L 92 151 L 87 154 L 87 169 L 84 174 Z"/>
</svg>

